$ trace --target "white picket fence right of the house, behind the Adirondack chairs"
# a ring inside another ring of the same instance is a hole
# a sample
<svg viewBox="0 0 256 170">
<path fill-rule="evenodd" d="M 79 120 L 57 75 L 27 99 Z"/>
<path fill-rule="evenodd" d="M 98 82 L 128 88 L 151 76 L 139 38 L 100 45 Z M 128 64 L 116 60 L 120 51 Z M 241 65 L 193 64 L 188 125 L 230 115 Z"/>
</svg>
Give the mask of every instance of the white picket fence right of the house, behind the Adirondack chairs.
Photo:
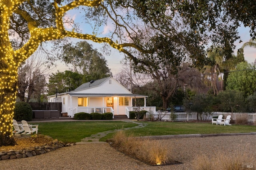
<svg viewBox="0 0 256 170">
<path fill-rule="evenodd" d="M 150 117 L 150 113 L 146 113 L 147 117 Z M 199 120 L 212 120 L 213 116 L 223 115 L 226 117 L 227 115 L 231 115 L 233 120 L 236 120 L 236 117 L 241 117 L 244 112 L 212 112 L 212 113 L 202 113 L 198 115 Z M 248 115 L 248 122 L 253 123 L 256 122 L 256 113 L 246 113 Z M 153 114 L 155 120 L 162 121 L 195 121 L 197 120 L 196 112 L 167 112 L 167 111 L 158 111 Z"/>
</svg>

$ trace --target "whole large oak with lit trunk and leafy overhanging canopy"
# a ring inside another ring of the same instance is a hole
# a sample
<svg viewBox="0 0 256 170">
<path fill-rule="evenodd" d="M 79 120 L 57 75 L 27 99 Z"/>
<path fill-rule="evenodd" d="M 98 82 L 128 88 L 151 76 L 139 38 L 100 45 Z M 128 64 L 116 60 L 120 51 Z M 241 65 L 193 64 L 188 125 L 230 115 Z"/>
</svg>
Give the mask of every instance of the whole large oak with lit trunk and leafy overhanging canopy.
<svg viewBox="0 0 256 170">
<path fill-rule="evenodd" d="M 254 36 L 255 3 L 251 0 L 0 0 L 0 146 L 15 143 L 11 129 L 18 66 L 44 42 L 54 41 L 58 45 L 58 40 L 74 37 L 106 43 L 123 52 L 134 65 L 147 65 L 152 64 L 151 59 L 144 61 L 145 57 L 137 57 L 140 53 L 150 54 L 146 57 L 158 56 L 158 61 L 166 62 L 156 53 L 164 54 L 165 49 L 170 49 L 167 43 L 161 43 L 166 37 L 174 48 L 171 58 L 178 49 L 186 49 L 184 56 L 191 57 L 194 64 L 204 63 L 204 57 L 202 53 L 190 53 L 191 49 L 203 51 L 203 45 L 212 41 L 225 49 L 229 59 L 238 39 L 239 21 L 250 26 Z M 66 15 L 78 8 L 84 12 L 84 20 L 92 24 L 91 34 L 81 33 L 77 23 Z M 66 24 L 72 29 L 66 29 Z M 112 25 L 114 29 L 106 37 L 97 37 L 101 25 Z M 190 49 L 191 46 L 194 47 Z"/>
</svg>

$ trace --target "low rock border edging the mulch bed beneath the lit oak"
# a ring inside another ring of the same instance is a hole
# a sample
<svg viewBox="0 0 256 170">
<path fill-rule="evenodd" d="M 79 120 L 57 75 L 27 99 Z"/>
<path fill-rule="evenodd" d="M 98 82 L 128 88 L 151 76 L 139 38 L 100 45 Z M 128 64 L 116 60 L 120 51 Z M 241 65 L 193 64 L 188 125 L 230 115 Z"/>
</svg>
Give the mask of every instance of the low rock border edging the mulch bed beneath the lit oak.
<svg viewBox="0 0 256 170">
<path fill-rule="evenodd" d="M 76 144 L 75 143 L 65 144 L 62 141 L 58 141 L 58 139 L 55 139 L 50 141 L 46 145 L 39 146 L 39 147 L 31 147 L 31 148 L 22 149 L 22 150 L 9 150 L 9 151 L 0 152 L 0 160 L 27 158 L 27 157 L 36 156 L 39 154 L 44 154 L 62 147 L 70 147 L 74 145 Z"/>
</svg>

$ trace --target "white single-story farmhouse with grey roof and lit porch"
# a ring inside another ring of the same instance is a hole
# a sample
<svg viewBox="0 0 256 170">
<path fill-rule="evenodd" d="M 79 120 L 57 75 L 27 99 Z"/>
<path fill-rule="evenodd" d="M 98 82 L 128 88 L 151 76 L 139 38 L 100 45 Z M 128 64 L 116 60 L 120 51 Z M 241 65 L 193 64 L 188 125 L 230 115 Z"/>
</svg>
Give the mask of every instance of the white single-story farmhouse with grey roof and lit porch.
<svg viewBox="0 0 256 170">
<path fill-rule="evenodd" d="M 144 98 L 144 109 L 155 113 L 156 107 L 146 107 L 148 96 L 132 94 L 112 77 L 90 81 L 74 91 L 48 96 L 48 102 L 62 102 L 62 113 L 74 117 L 75 113 L 106 113 L 127 115 L 133 111 L 132 99 Z"/>
</svg>

